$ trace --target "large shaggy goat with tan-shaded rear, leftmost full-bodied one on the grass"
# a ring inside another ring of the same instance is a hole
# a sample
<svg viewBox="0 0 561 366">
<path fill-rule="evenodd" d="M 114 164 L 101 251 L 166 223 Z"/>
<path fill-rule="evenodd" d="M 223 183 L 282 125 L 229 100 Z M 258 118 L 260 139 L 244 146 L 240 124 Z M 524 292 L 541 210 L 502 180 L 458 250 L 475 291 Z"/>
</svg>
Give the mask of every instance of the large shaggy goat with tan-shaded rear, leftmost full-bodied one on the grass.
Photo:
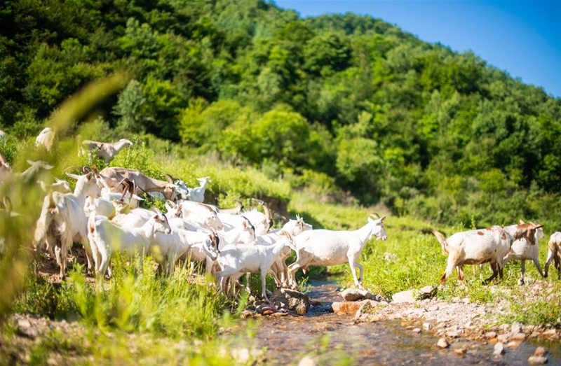
<svg viewBox="0 0 561 366">
<path fill-rule="evenodd" d="M 66 256 L 73 240 L 82 243 L 86 250 L 88 269 L 93 267 L 86 230 L 88 219 L 83 207 L 87 197 L 93 199 L 99 195 L 97 180 L 93 173 L 88 173 L 79 176 L 74 193 L 49 192 L 43 199 L 34 235 L 36 250 L 39 253 L 43 240 L 46 240 L 47 248 L 55 248 L 61 279 L 66 274 Z"/>
</svg>

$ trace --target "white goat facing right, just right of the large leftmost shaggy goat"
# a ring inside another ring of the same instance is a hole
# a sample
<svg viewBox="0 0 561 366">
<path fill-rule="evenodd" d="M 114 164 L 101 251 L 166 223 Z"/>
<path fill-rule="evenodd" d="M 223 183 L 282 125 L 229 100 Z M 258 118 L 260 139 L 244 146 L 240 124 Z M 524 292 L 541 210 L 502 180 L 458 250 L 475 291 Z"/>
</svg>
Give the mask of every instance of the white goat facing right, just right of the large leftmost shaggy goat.
<svg viewBox="0 0 561 366">
<path fill-rule="evenodd" d="M 144 225 L 128 229 L 111 223 L 104 216 L 90 214 L 88 220 L 88 239 L 93 252 L 95 272 L 98 276 L 104 276 L 109 260 L 113 253 L 126 252 L 127 255 L 139 255 L 140 268 L 142 258 L 148 253 L 149 246 L 154 242 L 156 232 L 171 233 L 168 219 L 163 213 L 154 213 Z"/>
</svg>

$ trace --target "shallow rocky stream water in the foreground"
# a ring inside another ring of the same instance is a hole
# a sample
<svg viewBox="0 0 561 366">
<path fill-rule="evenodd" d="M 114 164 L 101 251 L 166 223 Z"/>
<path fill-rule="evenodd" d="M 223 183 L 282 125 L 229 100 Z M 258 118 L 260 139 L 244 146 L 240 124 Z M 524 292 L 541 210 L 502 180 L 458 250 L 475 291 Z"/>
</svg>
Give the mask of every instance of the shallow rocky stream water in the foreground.
<svg viewBox="0 0 561 366">
<path fill-rule="evenodd" d="M 545 346 L 548 365 L 561 365 L 559 342 L 525 341 L 495 358 L 494 344 L 455 342 L 447 349 L 435 345 L 431 332 L 414 334 L 400 321 L 353 324 L 353 315 L 329 313 L 332 302 L 341 301 L 334 281 L 311 281 L 311 300 L 322 307 L 311 307 L 305 316 L 262 318 L 254 342 L 266 347 L 267 365 L 297 365 L 311 356 L 318 365 L 529 365 L 536 346 Z M 464 356 L 454 350 L 466 349 Z"/>
</svg>

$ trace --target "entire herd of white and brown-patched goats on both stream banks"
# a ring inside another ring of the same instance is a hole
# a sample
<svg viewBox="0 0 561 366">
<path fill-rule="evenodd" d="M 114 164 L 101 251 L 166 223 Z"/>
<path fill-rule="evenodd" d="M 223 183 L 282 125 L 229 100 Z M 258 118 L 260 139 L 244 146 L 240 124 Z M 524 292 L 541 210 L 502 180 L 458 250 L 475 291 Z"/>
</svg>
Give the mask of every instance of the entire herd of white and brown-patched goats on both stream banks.
<svg viewBox="0 0 561 366">
<path fill-rule="evenodd" d="M 5 138 L 2 132 L 0 139 Z M 50 150 L 53 138 L 52 130 L 46 128 L 37 137 L 36 146 Z M 116 143 L 86 140 L 82 141 L 79 153 L 95 153 L 110 162 L 122 148 L 130 145 L 126 139 Z M 27 171 L 15 173 L 0 154 L 0 181 L 29 179 L 36 176 L 38 169 L 51 168 L 44 162 L 30 163 L 33 165 Z M 66 174 L 76 179 L 74 192 L 67 181 L 41 182 L 46 195 L 34 228 L 34 249 L 41 253 L 46 246 L 60 267 L 61 279 L 66 274 L 67 253 L 73 242 L 80 242 L 86 253 L 88 272 L 100 280 L 106 274 L 111 276 L 110 262 L 115 253 L 135 256 L 141 263 L 144 255 L 152 255 L 161 271 L 168 275 L 179 259 L 203 262 L 206 273 L 215 276 L 221 290 L 230 297 L 235 296 L 236 283 L 243 274 L 258 273 L 262 297 L 267 300 L 268 274 L 273 276 L 276 286 L 296 289 L 295 273 L 298 269 L 305 273 L 310 265 L 349 263 L 354 284 L 362 288 L 363 266 L 358 260 L 363 246 L 372 237 L 387 239 L 386 216 L 377 214 L 367 217 L 365 225 L 358 230 L 313 229 L 299 216 L 272 230 L 271 211 L 259 199 L 255 202 L 262 206 L 263 212 L 257 207 L 244 210 L 241 202 L 231 209 L 203 203 L 209 177 L 198 178 L 200 186 L 188 188 L 171 176 L 161 181 L 122 167 L 106 167 L 101 171 L 83 167 L 81 174 Z M 140 208 L 144 194 L 165 199 L 166 212 Z M 3 217 L 9 220 L 11 216 Z M 454 268 L 463 281 L 464 265 L 489 262 L 493 274 L 486 282 L 496 276 L 502 278 L 508 260 L 522 261 L 520 283 L 524 283 L 525 260 L 533 260 L 544 277 L 552 260 L 557 270 L 561 270 L 561 232 L 550 237 L 542 272 L 537 243 L 545 235 L 542 225 L 536 223 L 520 220 L 518 225 L 458 232 L 447 239 L 436 230 L 432 232 L 448 255 L 441 286 Z M 296 260 L 287 265 L 292 251 Z"/>
</svg>

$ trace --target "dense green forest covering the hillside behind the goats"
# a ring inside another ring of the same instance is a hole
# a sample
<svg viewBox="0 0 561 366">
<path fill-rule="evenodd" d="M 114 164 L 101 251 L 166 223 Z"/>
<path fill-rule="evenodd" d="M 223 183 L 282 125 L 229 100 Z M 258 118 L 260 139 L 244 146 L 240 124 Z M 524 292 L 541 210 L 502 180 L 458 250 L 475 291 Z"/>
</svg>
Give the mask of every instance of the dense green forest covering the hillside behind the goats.
<svg viewBox="0 0 561 366">
<path fill-rule="evenodd" d="M 126 87 L 78 121 L 100 127 L 84 138 L 151 136 L 440 223 L 560 224 L 561 99 L 374 17 L 302 18 L 262 0 L 3 0 L 0 29 L 0 128 L 16 139 L 124 71 Z"/>
</svg>

